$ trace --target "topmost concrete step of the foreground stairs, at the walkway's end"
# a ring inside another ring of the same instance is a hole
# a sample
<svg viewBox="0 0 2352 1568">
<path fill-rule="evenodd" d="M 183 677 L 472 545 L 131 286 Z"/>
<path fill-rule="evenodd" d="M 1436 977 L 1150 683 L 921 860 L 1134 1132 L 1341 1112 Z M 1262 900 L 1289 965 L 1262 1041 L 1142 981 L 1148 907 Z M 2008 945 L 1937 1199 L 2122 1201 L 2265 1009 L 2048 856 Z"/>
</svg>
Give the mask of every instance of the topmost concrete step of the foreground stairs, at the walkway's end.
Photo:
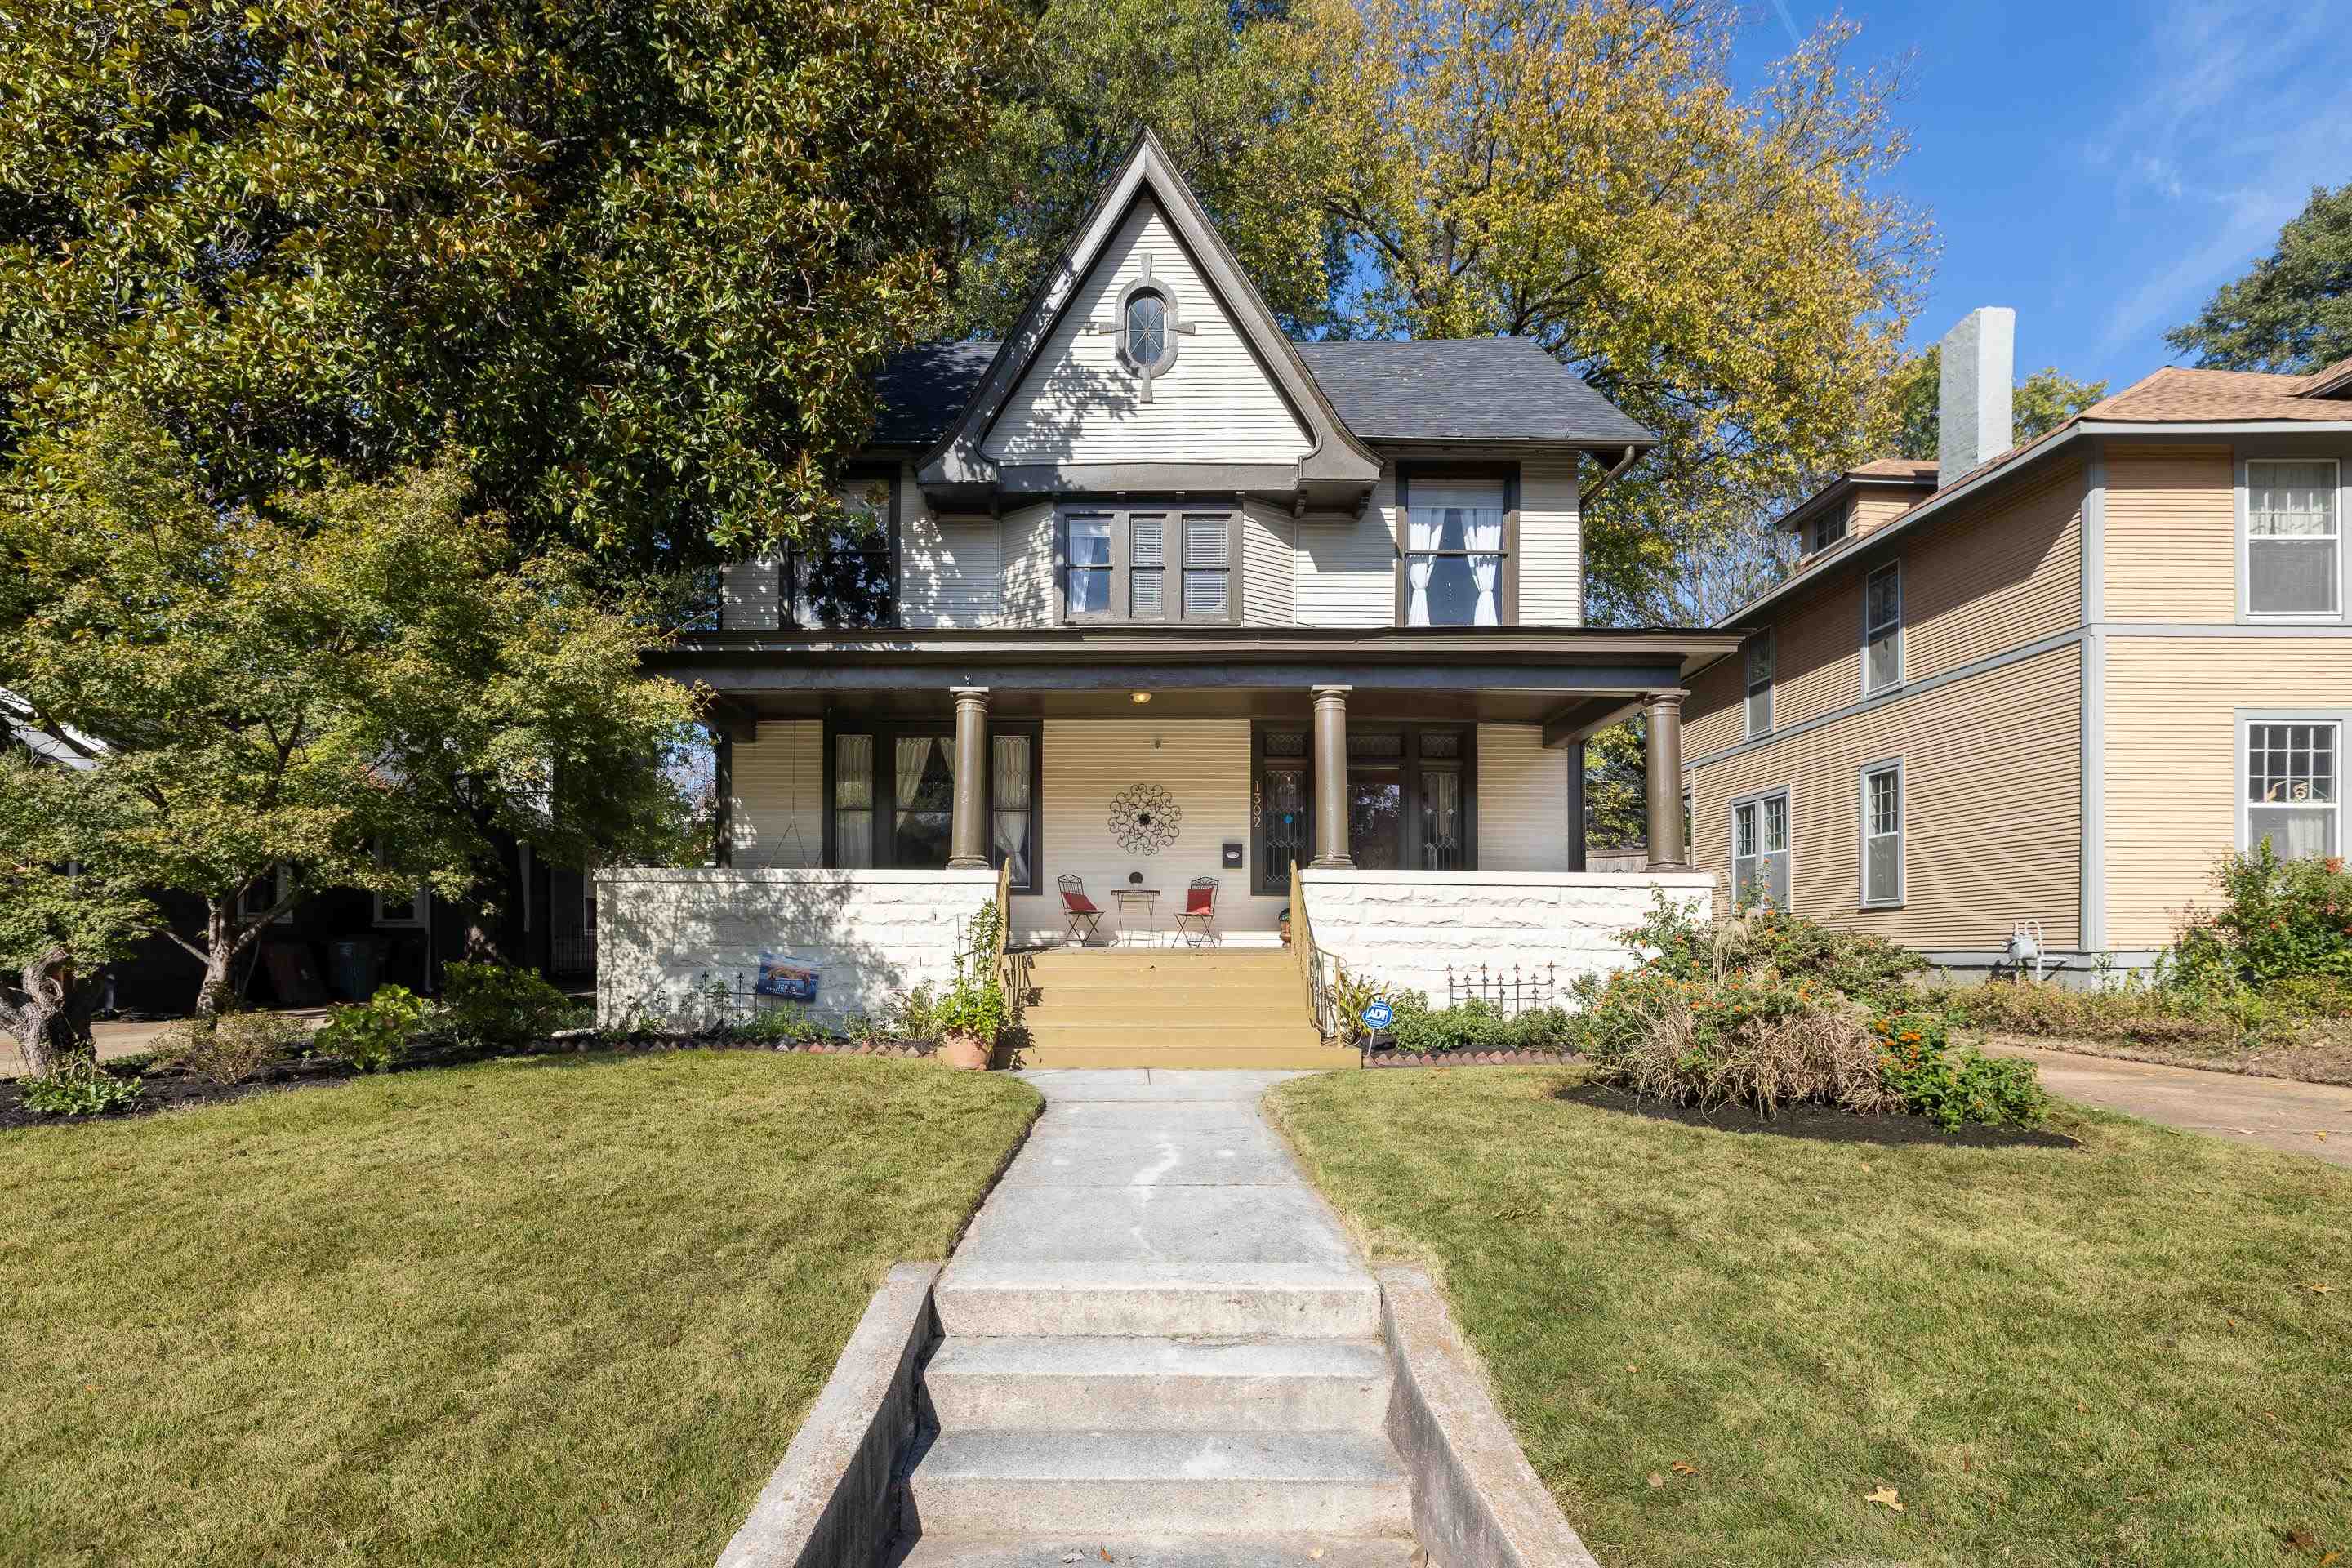
<svg viewBox="0 0 2352 1568">
<path fill-rule="evenodd" d="M 1355 1262 L 962 1258 L 931 1293 L 948 1338 L 1169 1335 L 1364 1340 L 1381 1288 Z"/>
</svg>

